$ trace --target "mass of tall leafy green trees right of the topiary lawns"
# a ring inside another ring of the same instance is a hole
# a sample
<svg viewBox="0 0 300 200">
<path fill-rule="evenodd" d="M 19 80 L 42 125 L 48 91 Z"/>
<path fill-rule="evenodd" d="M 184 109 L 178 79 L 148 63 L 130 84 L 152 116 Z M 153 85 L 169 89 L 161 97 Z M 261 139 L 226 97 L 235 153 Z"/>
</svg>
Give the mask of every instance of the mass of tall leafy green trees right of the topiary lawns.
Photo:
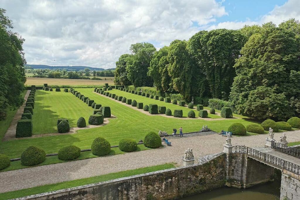
<svg viewBox="0 0 300 200">
<path fill-rule="evenodd" d="M 199 31 L 158 51 L 136 43 L 116 62 L 115 84 L 228 101 L 238 114 L 286 120 L 300 115 L 300 23 Z"/>
</svg>

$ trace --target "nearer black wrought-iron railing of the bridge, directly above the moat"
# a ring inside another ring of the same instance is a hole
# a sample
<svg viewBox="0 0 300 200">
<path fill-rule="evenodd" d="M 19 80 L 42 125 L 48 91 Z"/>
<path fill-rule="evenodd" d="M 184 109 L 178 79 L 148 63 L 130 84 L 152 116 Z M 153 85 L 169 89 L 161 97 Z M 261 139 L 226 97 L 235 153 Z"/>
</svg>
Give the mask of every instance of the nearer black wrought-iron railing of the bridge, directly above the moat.
<svg viewBox="0 0 300 200">
<path fill-rule="evenodd" d="M 277 158 L 275 156 L 271 156 L 269 154 L 265 154 L 261 151 L 258 151 L 253 148 L 249 148 L 246 146 L 233 146 L 233 153 L 240 153 L 240 154 L 246 154 L 247 156 L 253 157 L 257 160 L 260 160 L 264 163 L 271 164 L 275 167 L 278 167 L 280 169 L 285 169 L 289 172 L 292 172 L 296 175 L 300 175 L 300 166 L 290 163 L 288 161 L 282 160 L 280 158 Z"/>
</svg>

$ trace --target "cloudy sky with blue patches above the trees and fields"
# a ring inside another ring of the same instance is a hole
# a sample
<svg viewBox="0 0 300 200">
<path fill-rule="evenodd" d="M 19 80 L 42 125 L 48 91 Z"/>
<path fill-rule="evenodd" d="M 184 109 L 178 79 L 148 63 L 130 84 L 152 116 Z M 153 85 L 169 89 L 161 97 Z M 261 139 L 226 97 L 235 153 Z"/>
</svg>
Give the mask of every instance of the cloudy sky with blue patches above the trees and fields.
<svg viewBox="0 0 300 200">
<path fill-rule="evenodd" d="M 1 0 L 28 64 L 116 67 L 133 43 L 157 49 L 200 30 L 300 19 L 300 0 Z"/>
</svg>

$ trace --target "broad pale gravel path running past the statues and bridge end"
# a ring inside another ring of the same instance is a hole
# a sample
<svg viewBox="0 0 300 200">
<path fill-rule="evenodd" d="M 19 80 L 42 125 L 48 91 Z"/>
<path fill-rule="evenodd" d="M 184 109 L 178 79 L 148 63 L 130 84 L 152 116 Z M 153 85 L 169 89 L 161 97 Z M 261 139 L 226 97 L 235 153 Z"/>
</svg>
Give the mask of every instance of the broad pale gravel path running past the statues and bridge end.
<svg viewBox="0 0 300 200">
<path fill-rule="evenodd" d="M 299 141 L 300 130 L 285 133 L 289 142 Z M 279 136 L 281 133 L 275 133 L 274 139 L 279 140 Z M 233 136 L 232 145 L 262 147 L 267 137 L 267 134 Z M 172 146 L 164 144 L 158 149 L 0 172 L 0 193 L 164 163 L 174 162 L 181 165 L 181 157 L 185 149 L 192 148 L 198 160 L 199 156 L 223 151 L 226 139 L 218 134 L 193 137 L 170 136 L 169 138 Z"/>
</svg>

